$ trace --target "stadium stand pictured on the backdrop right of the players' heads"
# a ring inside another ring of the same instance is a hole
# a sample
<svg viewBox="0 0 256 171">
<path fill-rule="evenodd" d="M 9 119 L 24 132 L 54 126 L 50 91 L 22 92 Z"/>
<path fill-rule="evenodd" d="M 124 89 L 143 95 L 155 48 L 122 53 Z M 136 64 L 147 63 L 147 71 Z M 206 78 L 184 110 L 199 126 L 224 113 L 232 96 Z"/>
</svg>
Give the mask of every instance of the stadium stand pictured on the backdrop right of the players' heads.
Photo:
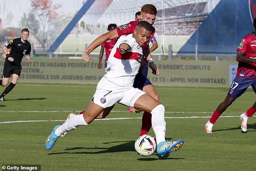
<svg viewBox="0 0 256 171">
<path fill-rule="evenodd" d="M 156 32 L 165 35 L 193 34 L 209 15 L 204 12 L 206 3 L 185 4 L 158 10 L 157 20 L 154 24 Z"/>
</svg>

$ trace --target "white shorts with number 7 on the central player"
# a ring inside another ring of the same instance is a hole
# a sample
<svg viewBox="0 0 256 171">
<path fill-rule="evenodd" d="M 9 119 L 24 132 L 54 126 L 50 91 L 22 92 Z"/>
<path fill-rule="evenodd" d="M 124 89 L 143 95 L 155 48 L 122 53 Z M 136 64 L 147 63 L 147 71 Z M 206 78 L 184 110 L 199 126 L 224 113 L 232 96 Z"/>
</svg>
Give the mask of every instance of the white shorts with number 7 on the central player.
<svg viewBox="0 0 256 171">
<path fill-rule="evenodd" d="M 97 84 L 92 100 L 95 104 L 106 108 L 120 103 L 134 107 L 135 101 L 145 92 L 134 87 L 122 87 L 103 77 Z"/>
</svg>

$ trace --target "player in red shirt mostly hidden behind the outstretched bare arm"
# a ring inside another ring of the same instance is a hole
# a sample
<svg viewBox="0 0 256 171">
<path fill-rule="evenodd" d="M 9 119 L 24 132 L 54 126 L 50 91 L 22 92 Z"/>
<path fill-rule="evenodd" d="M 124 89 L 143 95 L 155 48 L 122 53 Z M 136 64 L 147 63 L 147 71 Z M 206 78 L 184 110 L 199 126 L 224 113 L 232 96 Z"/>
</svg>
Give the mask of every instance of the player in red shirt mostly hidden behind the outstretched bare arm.
<svg viewBox="0 0 256 171">
<path fill-rule="evenodd" d="M 113 29 L 116 29 L 117 25 L 116 24 L 110 24 L 107 27 L 108 31 L 111 31 Z M 114 45 L 115 45 L 115 41 L 116 39 L 112 39 L 112 40 L 107 40 L 104 43 L 102 43 L 101 45 L 101 51 L 100 51 L 100 60 L 99 60 L 99 64 L 98 64 L 98 68 L 101 69 L 101 60 L 103 58 L 103 54 L 104 54 L 104 49 L 105 49 L 105 54 L 106 54 L 106 59 L 105 59 L 105 72 L 106 68 L 107 68 L 107 60 L 109 58 L 109 54 L 111 52 L 111 50 L 113 49 Z"/>
</svg>

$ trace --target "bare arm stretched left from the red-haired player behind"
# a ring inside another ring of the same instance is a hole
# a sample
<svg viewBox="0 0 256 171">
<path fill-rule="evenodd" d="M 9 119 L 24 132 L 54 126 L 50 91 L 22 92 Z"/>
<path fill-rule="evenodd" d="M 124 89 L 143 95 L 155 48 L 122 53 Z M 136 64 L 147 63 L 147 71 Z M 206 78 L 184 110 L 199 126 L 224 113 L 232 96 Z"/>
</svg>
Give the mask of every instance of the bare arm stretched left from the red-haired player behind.
<svg viewBox="0 0 256 171">
<path fill-rule="evenodd" d="M 99 45 L 104 43 L 107 40 L 112 40 L 118 38 L 118 32 L 116 29 L 111 30 L 107 33 L 104 33 L 103 35 L 100 35 L 97 37 L 88 47 L 85 49 L 85 51 L 82 54 L 82 58 L 84 59 L 85 62 L 90 62 L 90 56 L 89 54 L 96 49 Z"/>
</svg>

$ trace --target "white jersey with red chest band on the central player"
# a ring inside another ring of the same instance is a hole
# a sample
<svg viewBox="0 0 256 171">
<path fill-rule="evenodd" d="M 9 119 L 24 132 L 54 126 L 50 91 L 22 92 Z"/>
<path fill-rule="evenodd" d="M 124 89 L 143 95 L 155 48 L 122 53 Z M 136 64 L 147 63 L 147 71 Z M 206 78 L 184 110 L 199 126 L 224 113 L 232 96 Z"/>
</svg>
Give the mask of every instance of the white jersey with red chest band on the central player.
<svg viewBox="0 0 256 171">
<path fill-rule="evenodd" d="M 124 54 L 120 54 L 119 51 L 119 46 L 122 43 L 131 47 Z M 132 87 L 134 78 L 141 66 L 142 58 L 143 49 L 132 37 L 132 34 L 121 36 L 109 55 L 105 77 L 120 86 Z"/>
</svg>

